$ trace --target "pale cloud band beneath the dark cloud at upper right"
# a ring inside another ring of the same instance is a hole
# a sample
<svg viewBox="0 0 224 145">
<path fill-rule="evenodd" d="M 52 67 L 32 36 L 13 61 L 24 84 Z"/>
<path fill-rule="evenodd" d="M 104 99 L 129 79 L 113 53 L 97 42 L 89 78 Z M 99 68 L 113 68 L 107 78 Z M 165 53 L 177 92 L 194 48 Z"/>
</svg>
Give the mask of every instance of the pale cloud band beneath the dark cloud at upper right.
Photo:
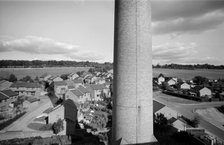
<svg viewBox="0 0 224 145">
<path fill-rule="evenodd" d="M 216 10 L 197 17 L 179 17 L 176 19 L 157 21 L 152 25 L 154 34 L 201 33 L 215 30 L 224 23 L 224 11 Z"/>
</svg>

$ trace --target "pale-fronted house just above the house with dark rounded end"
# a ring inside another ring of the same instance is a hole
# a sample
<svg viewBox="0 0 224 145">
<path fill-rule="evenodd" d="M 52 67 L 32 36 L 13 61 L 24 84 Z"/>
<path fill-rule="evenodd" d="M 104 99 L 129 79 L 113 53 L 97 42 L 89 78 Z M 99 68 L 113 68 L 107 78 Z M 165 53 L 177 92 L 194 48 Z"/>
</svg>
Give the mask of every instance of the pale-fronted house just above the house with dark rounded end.
<svg viewBox="0 0 224 145">
<path fill-rule="evenodd" d="M 58 98 L 65 99 L 67 91 L 68 85 L 65 81 L 54 82 L 54 93 Z"/>
</svg>

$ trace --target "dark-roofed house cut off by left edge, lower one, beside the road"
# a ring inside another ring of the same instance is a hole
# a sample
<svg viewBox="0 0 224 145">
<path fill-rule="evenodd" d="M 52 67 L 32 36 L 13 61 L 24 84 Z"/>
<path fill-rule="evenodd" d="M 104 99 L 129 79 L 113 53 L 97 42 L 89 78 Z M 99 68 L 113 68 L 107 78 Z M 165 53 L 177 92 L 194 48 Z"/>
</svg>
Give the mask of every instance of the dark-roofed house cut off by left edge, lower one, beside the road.
<svg viewBox="0 0 224 145">
<path fill-rule="evenodd" d="M 0 111 L 8 110 L 9 106 L 14 107 L 14 102 L 18 99 L 18 93 L 12 90 L 0 91 Z"/>
</svg>

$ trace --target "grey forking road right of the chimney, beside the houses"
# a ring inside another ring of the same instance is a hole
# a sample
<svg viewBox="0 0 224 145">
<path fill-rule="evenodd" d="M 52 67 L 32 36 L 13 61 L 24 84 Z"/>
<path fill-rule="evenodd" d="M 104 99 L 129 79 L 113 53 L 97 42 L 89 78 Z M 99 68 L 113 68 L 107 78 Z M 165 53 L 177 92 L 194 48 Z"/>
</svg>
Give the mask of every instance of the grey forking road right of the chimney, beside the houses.
<svg viewBox="0 0 224 145">
<path fill-rule="evenodd" d="M 214 124 L 212 124 L 211 122 L 203 118 L 202 116 L 198 116 L 198 114 L 195 112 L 196 109 L 205 109 L 205 108 L 212 108 L 212 107 L 224 105 L 224 102 L 198 103 L 198 102 L 192 101 L 191 103 L 188 102 L 187 104 L 183 104 L 183 103 L 180 103 L 181 98 L 176 98 L 177 100 L 176 101 L 173 99 L 173 96 L 166 95 L 160 92 L 155 92 L 153 95 L 154 95 L 154 100 L 168 106 L 169 108 L 173 110 L 176 110 L 178 113 L 182 114 L 183 116 L 189 119 L 193 119 L 194 117 L 197 116 L 200 120 L 199 127 L 204 128 L 209 133 L 217 136 L 218 138 L 224 141 L 224 127 L 221 126 L 219 128 L 215 126 Z M 172 99 L 169 99 L 169 98 L 172 98 Z"/>
</svg>

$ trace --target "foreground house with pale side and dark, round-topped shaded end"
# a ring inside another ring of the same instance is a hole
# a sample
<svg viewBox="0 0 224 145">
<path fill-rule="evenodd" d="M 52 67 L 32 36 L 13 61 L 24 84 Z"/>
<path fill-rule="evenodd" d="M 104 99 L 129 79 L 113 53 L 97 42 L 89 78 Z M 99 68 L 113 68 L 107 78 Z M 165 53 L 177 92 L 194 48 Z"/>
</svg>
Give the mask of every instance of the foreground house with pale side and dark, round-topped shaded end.
<svg viewBox="0 0 224 145">
<path fill-rule="evenodd" d="M 61 105 L 56 106 L 48 114 L 46 122 L 53 124 L 58 119 L 63 121 L 64 130 L 60 135 L 74 135 L 77 123 L 78 104 L 71 99 L 65 100 Z"/>
</svg>

